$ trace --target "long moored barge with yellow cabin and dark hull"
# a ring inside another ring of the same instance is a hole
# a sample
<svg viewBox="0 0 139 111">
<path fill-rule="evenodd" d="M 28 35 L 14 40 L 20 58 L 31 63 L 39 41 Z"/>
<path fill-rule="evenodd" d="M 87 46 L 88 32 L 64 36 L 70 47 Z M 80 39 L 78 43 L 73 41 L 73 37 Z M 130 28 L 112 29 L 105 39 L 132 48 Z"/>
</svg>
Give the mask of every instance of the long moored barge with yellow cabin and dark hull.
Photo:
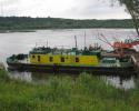
<svg viewBox="0 0 139 111">
<path fill-rule="evenodd" d="M 105 54 L 103 54 L 105 53 Z M 135 73 L 131 56 L 107 53 L 101 48 L 79 50 L 48 47 L 33 48 L 28 54 L 13 54 L 7 59 L 10 70 L 52 73 L 81 73 L 129 75 Z"/>
</svg>

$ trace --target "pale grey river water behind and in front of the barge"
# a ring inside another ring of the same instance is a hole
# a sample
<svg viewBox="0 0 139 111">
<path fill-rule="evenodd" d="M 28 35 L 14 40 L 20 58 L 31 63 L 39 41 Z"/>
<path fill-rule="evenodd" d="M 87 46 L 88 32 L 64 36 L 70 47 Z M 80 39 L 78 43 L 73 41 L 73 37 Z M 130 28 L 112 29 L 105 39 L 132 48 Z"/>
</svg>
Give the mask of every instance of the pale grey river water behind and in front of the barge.
<svg viewBox="0 0 139 111">
<path fill-rule="evenodd" d="M 28 53 L 36 46 L 49 47 L 75 47 L 75 36 L 77 37 L 78 48 L 86 46 L 93 46 L 95 43 L 101 44 L 103 49 L 111 50 L 111 47 L 98 38 L 101 34 L 112 42 L 116 40 L 125 40 L 136 38 L 133 29 L 57 29 L 57 30 L 37 30 L 36 32 L 9 32 L 0 33 L 0 61 L 7 67 L 6 59 L 11 54 Z M 137 47 L 138 49 L 138 47 Z M 18 78 L 27 81 L 43 81 L 47 79 L 47 73 L 32 73 L 32 72 L 9 72 L 11 78 Z M 119 77 L 103 77 L 107 82 L 116 85 L 117 88 L 130 89 L 135 88 L 135 78 L 121 79 Z"/>
</svg>

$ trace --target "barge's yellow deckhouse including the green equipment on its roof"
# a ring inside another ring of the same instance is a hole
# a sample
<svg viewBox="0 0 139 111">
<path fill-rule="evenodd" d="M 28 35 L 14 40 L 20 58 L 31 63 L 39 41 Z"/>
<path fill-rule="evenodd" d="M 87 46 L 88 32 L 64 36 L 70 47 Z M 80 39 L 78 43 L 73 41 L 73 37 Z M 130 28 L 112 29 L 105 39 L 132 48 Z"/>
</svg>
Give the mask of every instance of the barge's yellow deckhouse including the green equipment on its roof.
<svg viewBox="0 0 139 111">
<path fill-rule="evenodd" d="M 30 51 L 31 63 L 61 64 L 61 65 L 98 65 L 99 59 L 96 53 L 73 49 L 34 48 Z"/>
</svg>

